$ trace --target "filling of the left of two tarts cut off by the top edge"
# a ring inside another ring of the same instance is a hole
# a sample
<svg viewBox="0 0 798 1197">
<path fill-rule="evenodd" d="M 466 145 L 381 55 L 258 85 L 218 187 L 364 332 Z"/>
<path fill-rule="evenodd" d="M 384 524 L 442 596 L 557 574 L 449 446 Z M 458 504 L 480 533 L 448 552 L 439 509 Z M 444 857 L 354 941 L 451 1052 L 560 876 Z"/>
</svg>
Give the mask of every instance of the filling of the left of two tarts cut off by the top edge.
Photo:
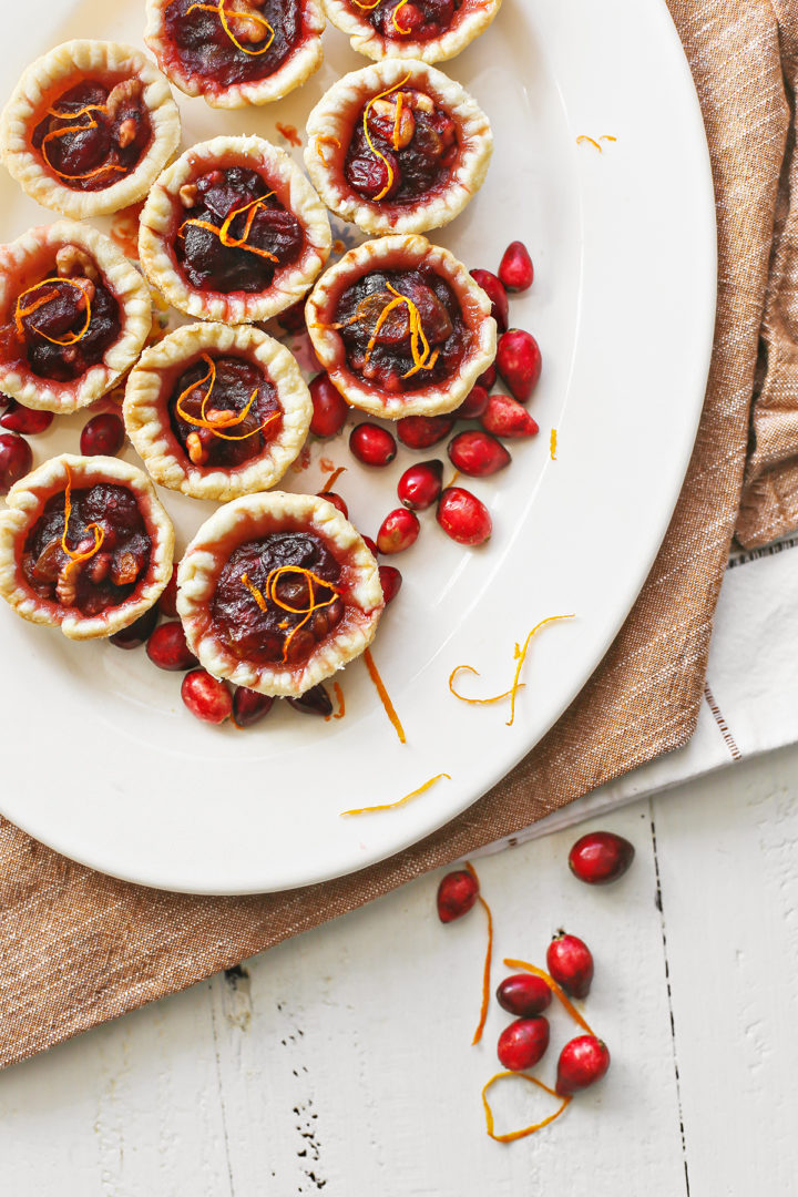
<svg viewBox="0 0 798 1197">
<path fill-rule="evenodd" d="M 225 31 L 219 5 L 171 0 L 165 16 L 184 72 L 211 79 L 220 87 L 274 74 L 301 34 L 300 0 L 225 0 L 230 34 Z"/>
</svg>

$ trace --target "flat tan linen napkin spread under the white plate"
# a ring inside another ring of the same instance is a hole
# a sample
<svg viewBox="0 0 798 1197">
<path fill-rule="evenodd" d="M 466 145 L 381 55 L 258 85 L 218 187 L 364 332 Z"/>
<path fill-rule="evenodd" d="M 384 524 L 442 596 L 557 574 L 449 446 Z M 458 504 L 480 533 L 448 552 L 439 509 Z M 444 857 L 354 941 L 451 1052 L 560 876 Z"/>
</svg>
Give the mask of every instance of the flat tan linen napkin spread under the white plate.
<svg viewBox="0 0 798 1197">
<path fill-rule="evenodd" d="M 0 821 L 0 1065 L 511 834 L 690 737 L 743 478 L 790 117 L 769 0 L 671 0 L 671 12 L 712 153 L 718 323 L 684 490 L 607 657 L 542 743 L 465 814 L 408 851 L 337 881 L 255 898 L 156 892 L 73 864 Z"/>
</svg>

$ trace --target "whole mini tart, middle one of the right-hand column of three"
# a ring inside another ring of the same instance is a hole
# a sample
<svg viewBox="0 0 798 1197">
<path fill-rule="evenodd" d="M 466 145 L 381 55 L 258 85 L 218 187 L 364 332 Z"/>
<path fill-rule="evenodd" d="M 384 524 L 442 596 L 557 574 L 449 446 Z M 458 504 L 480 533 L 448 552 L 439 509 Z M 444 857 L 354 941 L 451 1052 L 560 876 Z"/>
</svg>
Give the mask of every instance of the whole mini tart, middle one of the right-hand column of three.
<svg viewBox="0 0 798 1197">
<path fill-rule="evenodd" d="M 492 153 L 485 113 L 424 62 L 386 59 L 353 71 L 307 119 L 313 186 L 328 208 L 364 232 L 449 224 L 485 182 Z"/>
</svg>

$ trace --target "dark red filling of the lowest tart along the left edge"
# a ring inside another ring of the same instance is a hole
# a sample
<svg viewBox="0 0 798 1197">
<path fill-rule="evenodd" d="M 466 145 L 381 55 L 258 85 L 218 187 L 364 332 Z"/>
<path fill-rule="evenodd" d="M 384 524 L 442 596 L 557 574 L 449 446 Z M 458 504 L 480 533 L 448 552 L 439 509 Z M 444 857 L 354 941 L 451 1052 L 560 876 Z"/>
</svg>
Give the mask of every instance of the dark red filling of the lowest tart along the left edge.
<svg viewBox="0 0 798 1197">
<path fill-rule="evenodd" d="M 60 491 L 25 539 L 23 573 L 42 598 L 77 607 L 84 615 L 99 615 L 118 607 L 133 594 L 150 566 L 152 541 L 135 496 L 126 486 L 97 482 L 73 490 L 67 545 L 74 553 L 96 543 L 96 523 L 103 531 L 99 551 L 85 561 L 72 561 L 63 552 L 65 494 Z"/>
</svg>

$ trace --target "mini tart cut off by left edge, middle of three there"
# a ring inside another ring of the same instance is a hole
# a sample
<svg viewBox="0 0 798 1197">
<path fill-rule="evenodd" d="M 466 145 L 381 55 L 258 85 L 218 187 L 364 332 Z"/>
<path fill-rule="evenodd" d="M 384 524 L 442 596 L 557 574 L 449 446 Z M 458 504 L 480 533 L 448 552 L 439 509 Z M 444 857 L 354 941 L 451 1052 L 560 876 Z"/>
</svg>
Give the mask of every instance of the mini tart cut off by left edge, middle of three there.
<svg viewBox="0 0 798 1197">
<path fill-rule="evenodd" d="M 25 407 L 93 403 L 151 329 L 145 280 L 95 229 L 60 220 L 0 245 L 0 391 Z"/>
</svg>

